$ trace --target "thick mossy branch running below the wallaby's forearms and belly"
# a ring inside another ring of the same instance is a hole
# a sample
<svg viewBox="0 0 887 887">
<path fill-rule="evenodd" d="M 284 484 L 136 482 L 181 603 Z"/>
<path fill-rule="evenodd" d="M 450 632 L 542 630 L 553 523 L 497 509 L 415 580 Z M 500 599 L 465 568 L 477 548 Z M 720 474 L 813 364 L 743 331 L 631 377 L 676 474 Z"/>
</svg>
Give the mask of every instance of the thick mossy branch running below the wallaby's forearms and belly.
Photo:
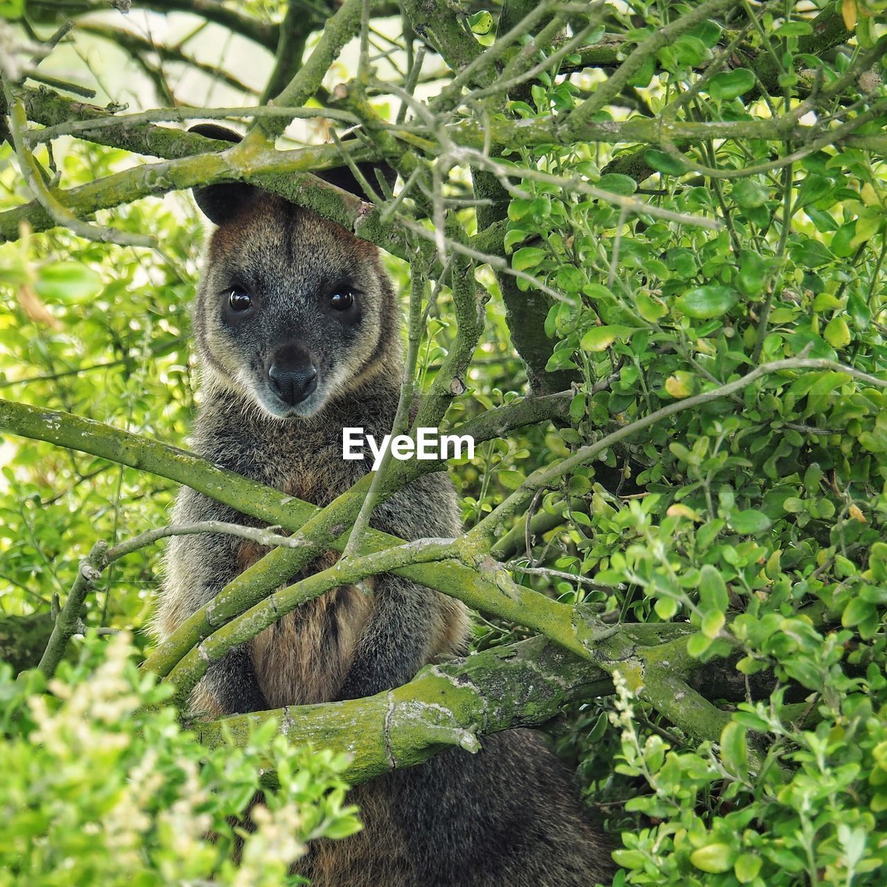
<svg viewBox="0 0 887 887">
<path fill-rule="evenodd" d="M 611 690 L 604 672 L 536 637 L 429 665 L 403 687 L 365 699 L 220 718 L 195 728 L 201 742 L 216 746 L 226 732 L 245 740 L 250 726 L 277 717 L 294 745 L 347 752 L 345 776 L 356 784 L 448 747 L 475 751 L 484 734 L 542 724 L 566 703 Z"/>
</svg>

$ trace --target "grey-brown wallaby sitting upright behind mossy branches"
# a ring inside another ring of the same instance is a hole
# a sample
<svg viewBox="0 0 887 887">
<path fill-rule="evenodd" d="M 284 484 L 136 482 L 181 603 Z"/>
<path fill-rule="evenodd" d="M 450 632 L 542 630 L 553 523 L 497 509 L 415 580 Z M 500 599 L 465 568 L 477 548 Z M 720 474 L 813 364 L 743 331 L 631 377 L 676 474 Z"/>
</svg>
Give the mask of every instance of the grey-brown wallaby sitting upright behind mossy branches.
<svg viewBox="0 0 887 887">
<path fill-rule="evenodd" d="M 239 138 L 214 124 L 195 130 Z M 325 174 L 363 196 L 349 176 Z M 379 438 L 396 411 L 400 311 L 377 247 L 247 184 L 212 184 L 194 196 L 217 227 L 194 310 L 201 401 L 193 448 L 324 506 L 367 470 L 366 461 L 342 459 L 341 429 Z M 205 520 L 250 522 L 184 488 L 175 521 Z M 433 473 L 411 483 L 375 508 L 373 525 L 406 539 L 456 536 L 449 479 Z M 173 538 L 159 637 L 262 554 L 231 536 Z M 379 693 L 438 656 L 464 653 L 467 629 L 459 601 L 383 575 L 371 595 L 335 589 L 232 651 L 209 669 L 192 708 L 219 716 Z M 529 730 L 483 737 L 474 755 L 444 751 L 350 797 L 365 828 L 315 842 L 297 866 L 316 887 L 589 887 L 612 875 L 606 837 Z"/>
</svg>

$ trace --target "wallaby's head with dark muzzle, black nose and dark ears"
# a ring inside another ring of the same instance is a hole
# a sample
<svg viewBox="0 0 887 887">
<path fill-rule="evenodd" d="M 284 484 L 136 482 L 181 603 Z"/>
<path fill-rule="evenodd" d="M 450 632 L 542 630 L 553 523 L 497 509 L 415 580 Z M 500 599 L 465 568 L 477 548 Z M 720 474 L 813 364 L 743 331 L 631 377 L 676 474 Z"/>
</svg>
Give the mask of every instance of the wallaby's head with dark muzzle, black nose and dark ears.
<svg viewBox="0 0 887 887">
<path fill-rule="evenodd" d="M 239 139 L 213 124 L 193 130 Z M 363 196 L 347 169 L 322 175 Z M 253 185 L 194 197 L 217 226 L 194 313 L 204 384 L 290 419 L 396 371 L 396 297 L 377 247 Z"/>
</svg>

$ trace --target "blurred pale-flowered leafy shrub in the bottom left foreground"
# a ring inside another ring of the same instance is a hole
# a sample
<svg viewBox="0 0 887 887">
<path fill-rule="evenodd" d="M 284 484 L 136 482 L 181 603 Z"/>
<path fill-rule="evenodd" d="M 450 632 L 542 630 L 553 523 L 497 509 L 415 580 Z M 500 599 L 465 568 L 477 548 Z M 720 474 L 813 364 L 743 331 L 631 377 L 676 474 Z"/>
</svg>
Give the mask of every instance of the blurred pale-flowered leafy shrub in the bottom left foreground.
<svg viewBox="0 0 887 887">
<path fill-rule="evenodd" d="M 201 747 L 134 652 L 125 635 L 92 639 L 49 694 L 39 673 L 0 667 L 0 884 L 304 883 L 287 871 L 306 841 L 360 828 L 344 760 L 288 747 L 274 722 Z M 261 785 L 269 767 L 276 788 Z M 236 823 L 260 786 L 247 830 Z"/>
</svg>

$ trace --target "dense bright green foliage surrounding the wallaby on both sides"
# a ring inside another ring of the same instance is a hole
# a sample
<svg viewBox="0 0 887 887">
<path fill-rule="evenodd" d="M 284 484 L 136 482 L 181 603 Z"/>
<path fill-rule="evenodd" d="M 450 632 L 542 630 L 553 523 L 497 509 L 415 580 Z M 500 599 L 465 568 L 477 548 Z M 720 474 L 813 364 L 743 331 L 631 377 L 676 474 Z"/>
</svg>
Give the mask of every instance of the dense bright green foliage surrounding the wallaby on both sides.
<svg viewBox="0 0 887 887">
<path fill-rule="evenodd" d="M 459 39 L 495 45 L 498 7 L 491 17 L 463 5 Z M 569 120 L 634 47 L 701 5 L 603 4 L 589 22 L 570 8 L 563 27 L 581 32 L 576 52 L 545 66 L 551 48 L 534 48 L 544 69 L 507 104 L 468 103 L 461 116 L 437 106 L 440 126 L 475 113 L 528 128 Z M 543 367 L 558 384 L 537 394 L 571 386 L 560 416 L 482 443 L 451 475 L 476 527 L 534 471 L 702 395 L 546 483 L 508 515 L 494 547 L 519 585 L 596 624 L 692 627 L 648 648 L 644 667 L 616 663 L 615 695 L 573 703 L 550 725 L 553 741 L 621 834 L 616 885 L 875 887 L 887 865 L 887 25 L 875 0 L 728 5 L 651 46 L 590 115 L 595 137 L 497 145 L 484 169 L 508 183 L 498 219 L 469 199 L 483 165 L 476 148 L 457 145 L 434 166 L 448 223 L 478 236 L 500 226 L 491 255 L 476 256 L 486 325 L 448 421 L 514 404 Z M 428 65 L 433 98 L 451 73 L 436 56 Z M 377 92 L 373 125 L 393 122 L 398 102 Z M 649 135 L 608 137 L 632 121 Z M 679 124 L 698 124 L 699 136 Z M 62 144 L 67 187 L 132 162 L 116 148 Z M 30 194 L 10 147 L 0 163 L 9 209 Z M 399 171 L 404 187 L 410 171 Z M 414 216 L 434 216 L 430 184 L 404 201 Z M 108 217 L 120 231 L 152 232 L 162 251 L 27 227 L 0 247 L 0 394 L 184 445 L 200 224 L 176 195 Z M 405 292 L 410 268 L 387 261 Z M 416 366 L 423 390 L 457 344 L 458 284 L 439 276 Z M 531 310 L 530 296 L 544 310 Z M 520 354 L 519 340 L 529 342 Z M 716 391 L 781 361 L 794 363 Z M 4 440 L 4 616 L 48 612 L 98 538 L 168 521 L 174 484 Z M 158 583 L 156 548 L 140 549 L 108 569 L 84 622 L 135 632 L 145 648 Z M 526 634 L 491 606 L 475 646 Z M 251 836 L 233 867 L 225 818 L 243 811 L 269 757 L 282 790 L 269 795 L 267 828 L 289 828 L 294 844 L 262 877 L 278 877 L 308 836 L 354 828 L 341 761 L 290 752 L 273 727 L 236 752 L 201 750 L 171 710 L 140 708 L 164 695 L 137 677 L 122 641 L 109 642 L 105 664 L 102 646 L 75 641 L 78 664 L 64 665 L 50 692 L 0 673 L 0 757 L 17 774 L 0 789 L 12 823 L 0 851 L 12 875 L 0 883 L 70 881 L 59 873 L 72 859 L 75 883 L 169 883 L 171 871 L 245 883 L 250 848 L 264 852 L 267 836 Z M 692 675 L 677 696 L 661 678 L 669 668 Z M 164 775 L 162 792 L 148 771 Z M 117 836 L 108 823 L 122 804 L 134 823 Z M 224 840 L 210 843 L 209 831 Z"/>
</svg>

